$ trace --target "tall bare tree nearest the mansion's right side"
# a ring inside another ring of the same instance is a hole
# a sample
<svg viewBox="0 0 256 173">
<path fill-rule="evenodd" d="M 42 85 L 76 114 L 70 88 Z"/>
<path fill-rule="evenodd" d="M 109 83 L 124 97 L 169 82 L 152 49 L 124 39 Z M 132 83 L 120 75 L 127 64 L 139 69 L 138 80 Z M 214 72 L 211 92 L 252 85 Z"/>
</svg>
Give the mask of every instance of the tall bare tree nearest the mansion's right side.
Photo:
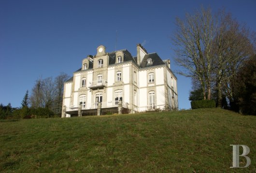
<svg viewBox="0 0 256 173">
<path fill-rule="evenodd" d="M 201 11 L 194 15 L 186 14 L 184 21 L 176 18 L 176 25 L 177 31 L 172 39 L 177 53 L 175 61 L 186 70 L 180 74 L 197 78 L 203 91 L 203 98 L 211 99 L 211 50 L 215 32 L 212 12 L 210 9 L 201 8 Z"/>
</svg>

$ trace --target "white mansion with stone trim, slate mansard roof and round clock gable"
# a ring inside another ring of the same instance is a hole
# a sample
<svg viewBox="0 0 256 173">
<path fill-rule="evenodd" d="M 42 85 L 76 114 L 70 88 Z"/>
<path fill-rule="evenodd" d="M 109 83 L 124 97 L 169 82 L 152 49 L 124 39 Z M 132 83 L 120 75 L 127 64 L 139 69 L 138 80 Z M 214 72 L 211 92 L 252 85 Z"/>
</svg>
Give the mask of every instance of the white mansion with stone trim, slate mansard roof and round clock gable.
<svg viewBox="0 0 256 173">
<path fill-rule="evenodd" d="M 127 49 L 107 53 L 104 46 L 82 61 L 82 68 L 64 84 L 62 117 L 178 109 L 177 77 L 170 60 Z"/>
</svg>

